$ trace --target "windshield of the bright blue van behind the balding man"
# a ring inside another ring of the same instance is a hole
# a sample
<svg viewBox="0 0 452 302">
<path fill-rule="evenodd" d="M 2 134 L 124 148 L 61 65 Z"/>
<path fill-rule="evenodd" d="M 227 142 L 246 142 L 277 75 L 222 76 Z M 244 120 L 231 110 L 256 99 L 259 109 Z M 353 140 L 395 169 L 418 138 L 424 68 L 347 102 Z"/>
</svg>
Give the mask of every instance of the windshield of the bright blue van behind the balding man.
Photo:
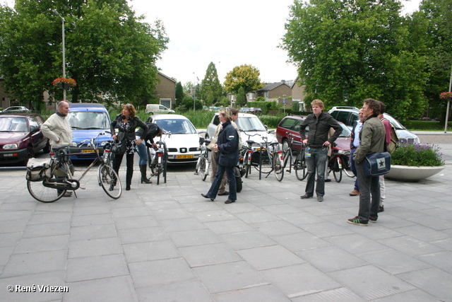
<svg viewBox="0 0 452 302">
<path fill-rule="evenodd" d="M 106 112 L 74 111 L 68 114 L 72 129 L 109 129 L 110 120 Z"/>
</svg>

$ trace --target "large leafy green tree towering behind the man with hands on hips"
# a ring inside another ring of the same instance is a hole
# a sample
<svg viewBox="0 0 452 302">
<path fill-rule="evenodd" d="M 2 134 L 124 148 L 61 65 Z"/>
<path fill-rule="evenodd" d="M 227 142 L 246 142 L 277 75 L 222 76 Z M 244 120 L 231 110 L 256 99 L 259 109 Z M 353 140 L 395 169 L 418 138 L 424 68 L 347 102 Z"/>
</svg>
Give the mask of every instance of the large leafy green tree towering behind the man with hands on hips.
<svg viewBox="0 0 452 302">
<path fill-rule="evenodd" d="M 426 62 L 408 45 L 399 0 L 295 1 L 280 47 L 326 106 L 377 98 L 403 120 L 426 106 Z"/>
</svg>

